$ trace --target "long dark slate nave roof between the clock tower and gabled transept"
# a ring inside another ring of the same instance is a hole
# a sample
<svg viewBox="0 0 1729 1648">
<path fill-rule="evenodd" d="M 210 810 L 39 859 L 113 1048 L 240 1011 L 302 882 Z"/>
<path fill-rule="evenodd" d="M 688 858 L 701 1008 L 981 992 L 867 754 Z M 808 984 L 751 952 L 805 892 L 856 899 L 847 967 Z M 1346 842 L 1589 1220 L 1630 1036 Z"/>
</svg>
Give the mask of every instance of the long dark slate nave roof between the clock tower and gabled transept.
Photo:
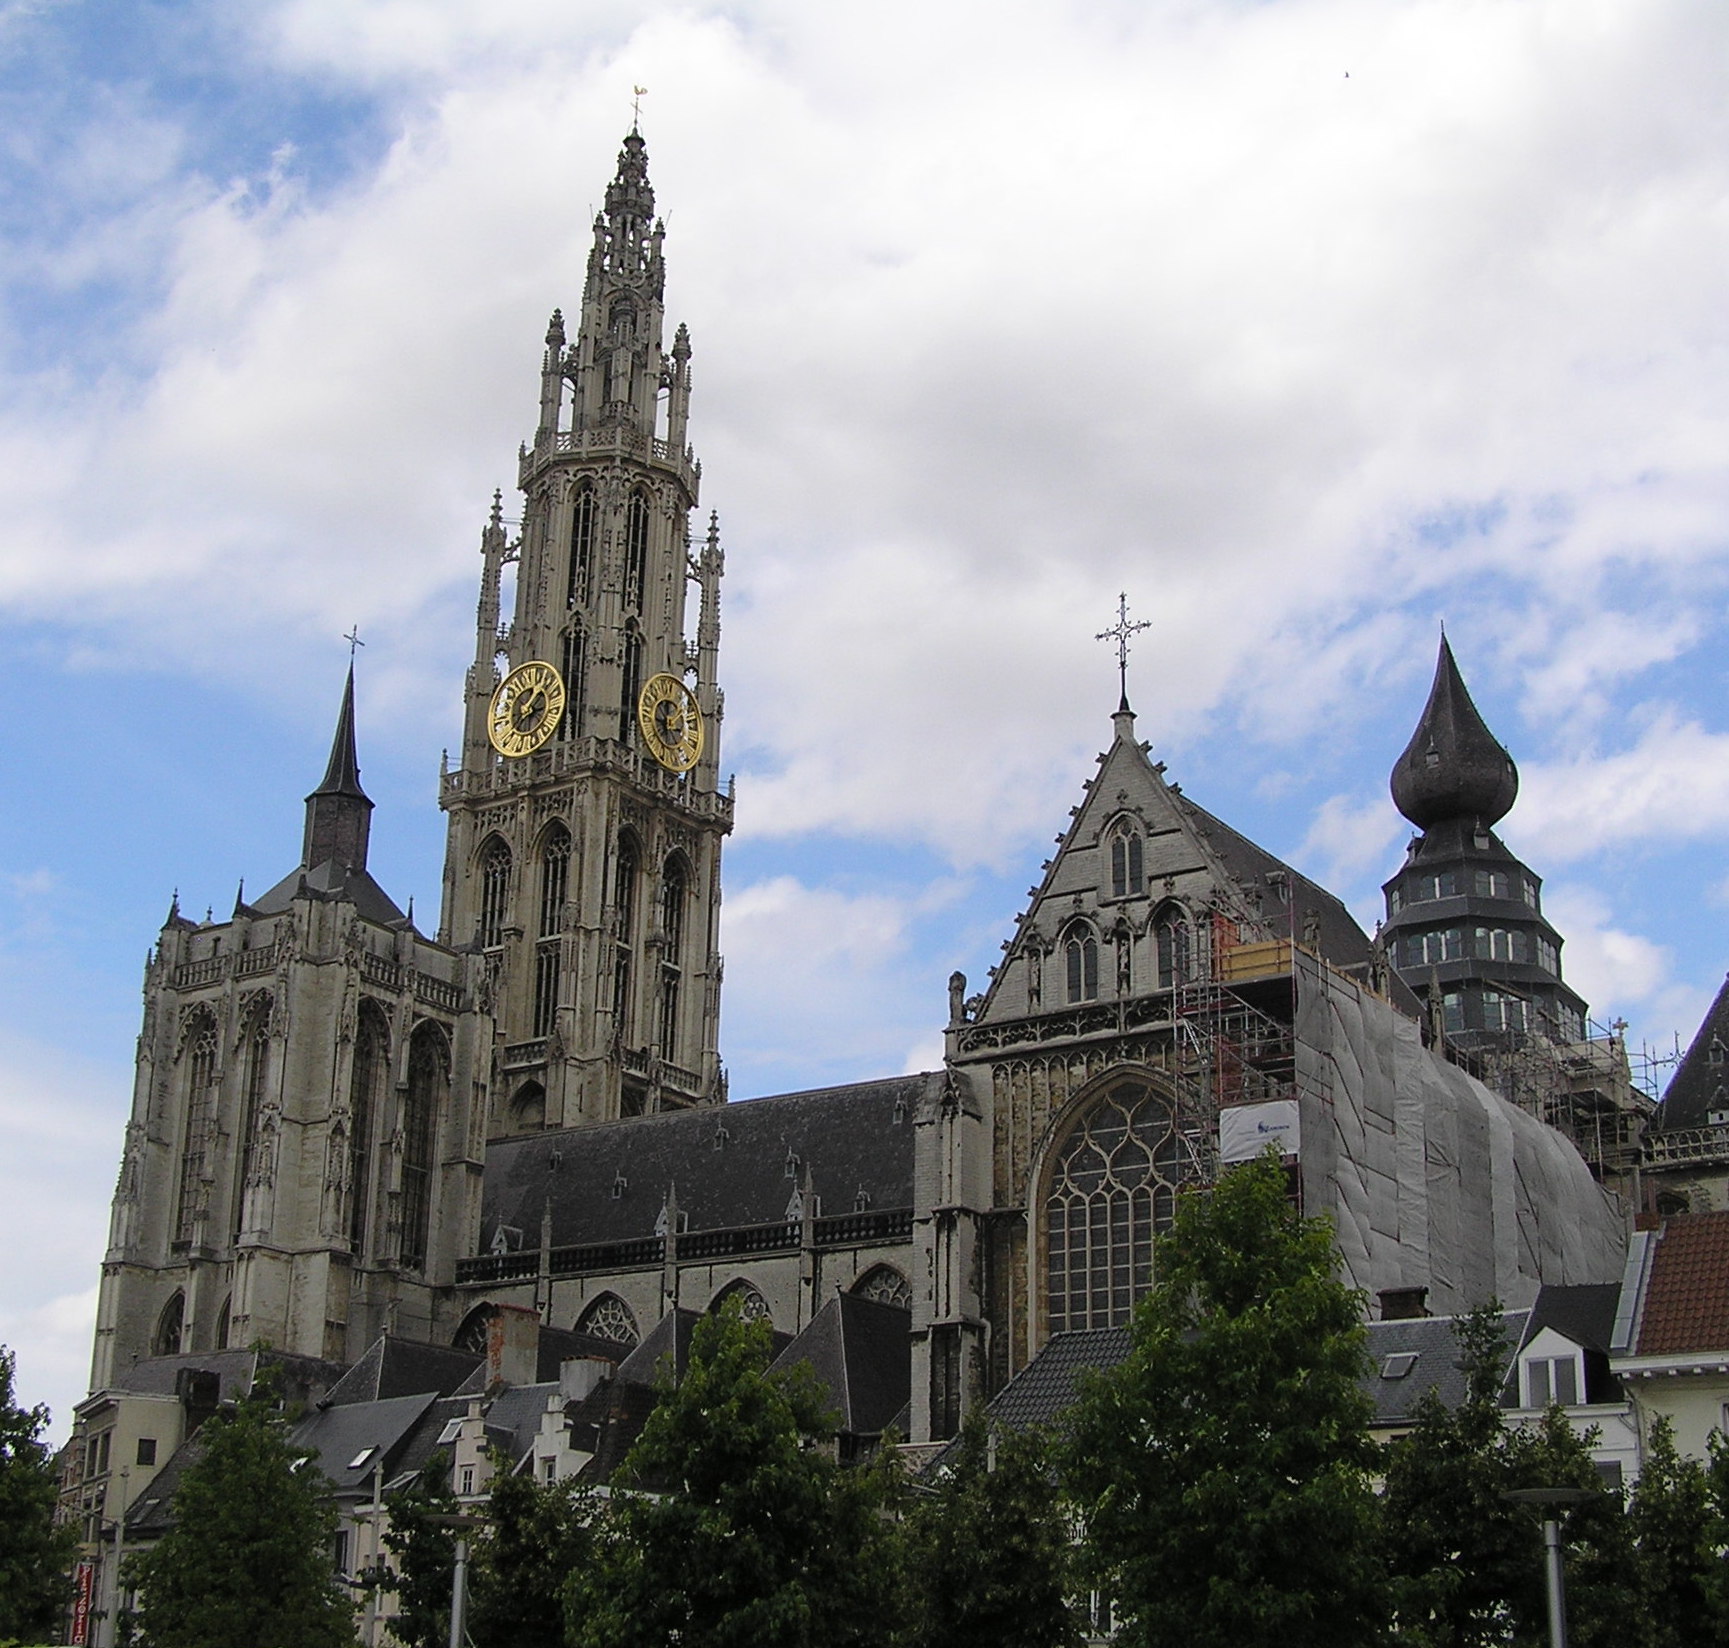
<svg viewBox="0 0 1729 1648">
<path fill-rule="evenodd" d="M 780 1224 L 811 1172 L 825 1214 L 913 1205 L 913 1117 L 942 1074 L 752 1098 L 500 1140 L 486 1150 L 481 1252 L 498 1226 L 557 1247 L 654 1235 L 676 1186 L 688 1231 Z M 788 1171 L 788 1159 L 792 1167 Z"/>
</svg>

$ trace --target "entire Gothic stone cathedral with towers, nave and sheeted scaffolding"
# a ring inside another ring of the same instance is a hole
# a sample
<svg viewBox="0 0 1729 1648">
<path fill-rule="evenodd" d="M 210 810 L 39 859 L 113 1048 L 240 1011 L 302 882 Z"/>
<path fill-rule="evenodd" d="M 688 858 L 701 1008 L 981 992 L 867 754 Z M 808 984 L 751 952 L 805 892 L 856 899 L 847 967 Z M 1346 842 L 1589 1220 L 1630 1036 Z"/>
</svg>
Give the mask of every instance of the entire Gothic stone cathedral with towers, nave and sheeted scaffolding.
<svg viewBox="0 0 1729 1648">
<path fill-rule="evenodd" d="M 633 131 L 546 330 L 520 531 L 494 498 L 481 533 L 436 934 L 367 868 L 353 673 L 299 865 L 226 920 L 169 911 L 93 1390 L 258 1344 L 329 1380 L 524 1332 L 629 1359 L 737 1297 L 782 1344 L 833 1323 L 839 1366 L 870 1338 L 861 1428 L 939 1439 L 1122 1325 L 1176 1198 L 1267 1148 L 1383 1314 L 1615 1281 L 1639 1105 L 1580 1053 L 1494 835 L 1516 771 L 1445 645 L 1385 932 L 1169 782 L 1124 699 L 1001 965 L 951 982 L 942 1067 L 728 1102 L 724 557 L 664 251 Z"/>
</svg>

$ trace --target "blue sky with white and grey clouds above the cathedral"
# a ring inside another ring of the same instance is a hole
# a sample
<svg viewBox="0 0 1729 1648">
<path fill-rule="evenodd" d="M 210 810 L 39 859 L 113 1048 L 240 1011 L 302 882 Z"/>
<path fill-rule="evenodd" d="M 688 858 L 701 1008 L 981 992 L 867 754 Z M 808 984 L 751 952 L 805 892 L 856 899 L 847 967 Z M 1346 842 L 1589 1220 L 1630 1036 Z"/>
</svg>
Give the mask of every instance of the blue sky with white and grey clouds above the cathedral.
<svg viewBox="0 0 1729 1648">
<path fill-rule="evenodd" d="M 1568 979 L 1729 965 L 1720 0 L 0 0 L 0 1342 L 83 1389 L 138 974 L 360 623 L 427 925 L 477 534 L 648 88 L 728 545 L 733 1093 L 923 1067 L 1141 735 L 1371 923 L 1445 621 Z M 29 1262 L 19 1262 L 28 1255 Z"/>
</svg>

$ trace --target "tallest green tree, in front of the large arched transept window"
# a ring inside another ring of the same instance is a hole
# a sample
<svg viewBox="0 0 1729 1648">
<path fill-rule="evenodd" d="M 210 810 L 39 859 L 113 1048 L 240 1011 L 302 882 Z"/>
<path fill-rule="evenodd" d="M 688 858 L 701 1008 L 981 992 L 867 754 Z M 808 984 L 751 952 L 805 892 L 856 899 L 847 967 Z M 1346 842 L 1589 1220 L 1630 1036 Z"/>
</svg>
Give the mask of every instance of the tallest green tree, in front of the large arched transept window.
<svg viewBox="0 0 1729 1648">
<path fill-rule="evenodd" d="M 1119 1641 L 1350 1648 L 1381 1581 L 1361 1295 L 1267 1157 L 1177 1205 L 1129 1356 L 1074 1409 L 1067 1475 Z"/>
</svg>

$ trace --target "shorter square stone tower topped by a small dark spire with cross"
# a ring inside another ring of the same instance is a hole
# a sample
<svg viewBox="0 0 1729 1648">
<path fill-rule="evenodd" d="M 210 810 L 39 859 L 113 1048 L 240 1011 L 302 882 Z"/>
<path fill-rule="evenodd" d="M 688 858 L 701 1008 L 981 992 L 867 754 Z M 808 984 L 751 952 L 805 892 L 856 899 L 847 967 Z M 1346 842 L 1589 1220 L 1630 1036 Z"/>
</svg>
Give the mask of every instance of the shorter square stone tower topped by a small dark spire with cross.
<svg viewBox="0 0 1729 1648">
<path fill-rule="evenodd" d="M 349 671 L 299 865 L 225 922 L 176 899 L 150 955 L 93 1389 L 149 1356 L 434 1332 L 479 1217 L 482 968 L 372 878 L 370 825 Z"/>
</svg>

